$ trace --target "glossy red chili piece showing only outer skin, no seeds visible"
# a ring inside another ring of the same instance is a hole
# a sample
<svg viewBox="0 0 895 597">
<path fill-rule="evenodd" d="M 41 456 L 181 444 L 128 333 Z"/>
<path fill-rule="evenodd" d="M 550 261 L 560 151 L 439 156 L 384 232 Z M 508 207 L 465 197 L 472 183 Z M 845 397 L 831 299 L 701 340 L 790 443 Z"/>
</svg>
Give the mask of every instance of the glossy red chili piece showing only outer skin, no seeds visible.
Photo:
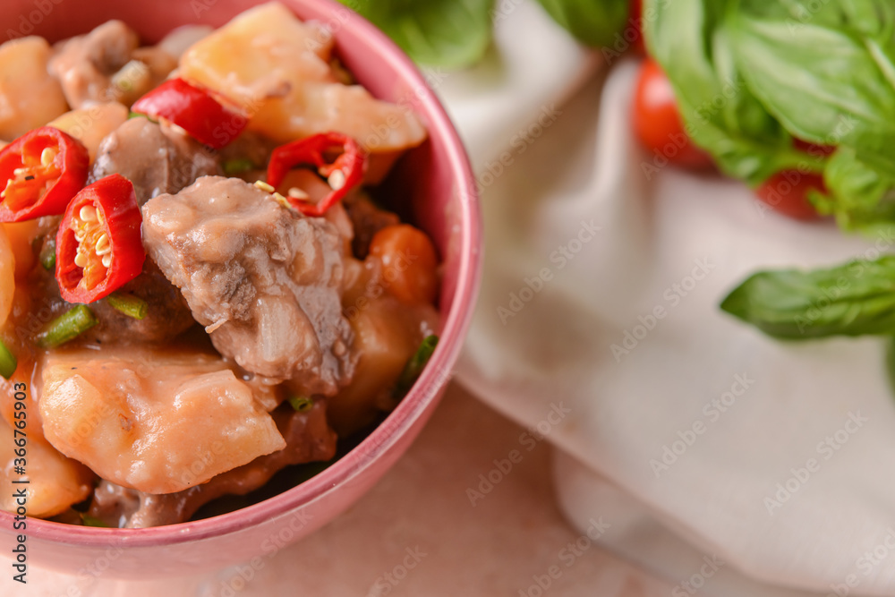
<svg viewBox="0 0 895 597">
<path fill-rule="evenodd" d="M 214 149 L 229 145 L 249 124 L 244 115 L 225 107 L 209 91 L 183 79 L 165 81 L 131 109 L 152 118 L 165 118 Z"/>
</svg>

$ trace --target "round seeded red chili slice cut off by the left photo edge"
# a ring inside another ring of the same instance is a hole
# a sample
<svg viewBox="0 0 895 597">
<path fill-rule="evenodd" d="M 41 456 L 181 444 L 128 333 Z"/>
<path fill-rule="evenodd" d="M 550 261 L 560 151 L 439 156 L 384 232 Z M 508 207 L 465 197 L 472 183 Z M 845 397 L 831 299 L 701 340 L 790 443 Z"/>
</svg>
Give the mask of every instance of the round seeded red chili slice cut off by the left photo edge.
<svg viewBox="0 0 895 597">
<path fill-rule="evenodd" d="M 44 126 L 0 150 L 0 222 L 58 216 L 87 182 L 90 155 L 70 135 Z"/>
</svg>

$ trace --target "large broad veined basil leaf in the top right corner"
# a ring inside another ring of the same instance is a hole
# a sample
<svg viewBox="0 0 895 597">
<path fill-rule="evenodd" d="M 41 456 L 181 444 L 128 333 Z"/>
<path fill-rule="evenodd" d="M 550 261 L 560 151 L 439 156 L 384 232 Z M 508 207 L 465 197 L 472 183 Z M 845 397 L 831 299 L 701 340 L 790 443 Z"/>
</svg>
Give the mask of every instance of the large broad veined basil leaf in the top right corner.
<svg viewBox="0 0 895 597">
<path fill-rule="evenodd" d="M 800 139 L 845 145 L 866 164 L 895 169 L 895 6 L 785 4 L 742 0 L 733 13 L 749 88 Z"/>
</svg>

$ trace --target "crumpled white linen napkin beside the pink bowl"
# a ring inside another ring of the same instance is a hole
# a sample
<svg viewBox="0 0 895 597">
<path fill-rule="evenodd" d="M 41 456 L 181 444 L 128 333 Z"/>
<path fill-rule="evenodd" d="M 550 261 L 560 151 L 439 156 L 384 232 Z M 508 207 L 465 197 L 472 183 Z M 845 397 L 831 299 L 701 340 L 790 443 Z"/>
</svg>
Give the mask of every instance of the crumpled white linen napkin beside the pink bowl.
<svg viewBox="0 0 895 597">
<path fill-rule="evenodd" d="M 584 533 L 602 516 L 599 541 L 676 597 L 895 594 L 884 342 L 782 343 L 718 308 L 757 269 L 891 252 L 895 226 L 849 237 L 661 166 L 630 132 L 635 61 L 564 103 L 593 66 L 570 44 L 517 4 L 503 64 L 439 88 L 486 227 L 461 380 L 558 447 L 570 520 Z"/>
</svg>

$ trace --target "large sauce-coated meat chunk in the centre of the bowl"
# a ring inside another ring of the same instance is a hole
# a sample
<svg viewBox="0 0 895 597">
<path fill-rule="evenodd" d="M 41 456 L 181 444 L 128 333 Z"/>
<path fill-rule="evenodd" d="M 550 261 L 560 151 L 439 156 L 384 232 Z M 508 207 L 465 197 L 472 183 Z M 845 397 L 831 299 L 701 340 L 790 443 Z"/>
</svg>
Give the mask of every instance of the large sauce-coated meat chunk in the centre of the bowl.
<svg viewBox="0 0 895 597">
<path fill-rule="evenodd" d="M 143 206 L 143 243 L 246 371 L 334 395 L 353 375 L 341 237 L 235 178 L 209 176 Z"/>
</svg>

